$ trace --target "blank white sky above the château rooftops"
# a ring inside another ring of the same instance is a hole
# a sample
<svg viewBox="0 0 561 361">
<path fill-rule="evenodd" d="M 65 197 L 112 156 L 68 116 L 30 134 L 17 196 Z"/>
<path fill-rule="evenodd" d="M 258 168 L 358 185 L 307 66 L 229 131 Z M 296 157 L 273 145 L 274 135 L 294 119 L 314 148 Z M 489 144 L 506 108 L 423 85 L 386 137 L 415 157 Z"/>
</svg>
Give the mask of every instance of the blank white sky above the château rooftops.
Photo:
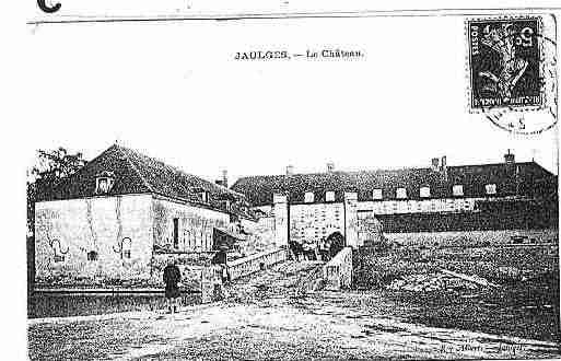
<svg viewBox="0 0 561 361">
<path fill-rule="evenodd" d="M 513 135 L 467 109 L 461 16 L 28 26 L 28 164 L 118 141 L 208 179 L 535 159 L 557 127 Z M 237 51 L 360 50 L 359 59 L 235 60 Z"/>
</svg>

